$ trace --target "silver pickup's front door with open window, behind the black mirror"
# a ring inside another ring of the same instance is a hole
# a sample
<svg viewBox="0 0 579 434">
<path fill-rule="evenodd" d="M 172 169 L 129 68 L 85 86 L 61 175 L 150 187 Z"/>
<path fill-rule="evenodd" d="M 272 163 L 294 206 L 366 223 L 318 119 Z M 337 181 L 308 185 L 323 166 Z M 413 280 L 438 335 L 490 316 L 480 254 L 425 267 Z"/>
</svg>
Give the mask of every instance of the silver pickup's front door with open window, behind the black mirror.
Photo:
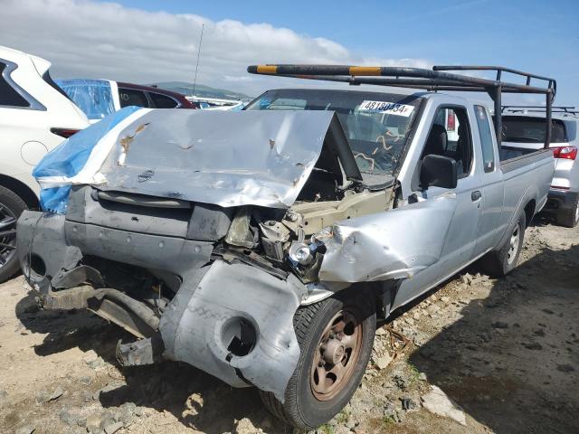
<svg viewBox="0 0 579 434">
<path fill-rule="evenodd" d="M 453 121 L 449 122 L 448 119 Z M 451 129 L 449 129 L 451 127 Z M 454 193 L 457 208 L 446 236 L 441 259 L 432 267 L 437 278 L 446 278 L 472 258 L 479 225 L 481 180 L 476 170 L 473 139 L 466 107 L 441 106 L 437 109 L 422 156 L 436 154 L 454 158 L 459 180 L 454 190 L 429 187 L 428 198 Z"/>
</svg>

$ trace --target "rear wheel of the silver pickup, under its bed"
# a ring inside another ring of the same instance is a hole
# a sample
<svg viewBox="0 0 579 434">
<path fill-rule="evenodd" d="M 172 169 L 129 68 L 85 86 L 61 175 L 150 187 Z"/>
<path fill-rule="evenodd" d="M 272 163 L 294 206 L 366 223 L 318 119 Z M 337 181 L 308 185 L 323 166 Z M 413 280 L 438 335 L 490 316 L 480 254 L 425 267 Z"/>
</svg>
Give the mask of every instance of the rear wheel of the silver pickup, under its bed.
<svg viewBox="0 0 579 434">
<path fill-rule="evenodd" d="M 508 275 L 517 267 L 518 255 L 525 242 L 525 229 L 527 228 L 527 217 L 525 212 L 521 211 L 517 216 L 517 221 L 513 226 L 508 228 L 508 238 L 498 250 L 490 251 L 482 261 L 483 267 L 487 273 L 496 278 Z M 513 246 L 513 237 L 518 233 L 517 245 Z"/>
</svg>

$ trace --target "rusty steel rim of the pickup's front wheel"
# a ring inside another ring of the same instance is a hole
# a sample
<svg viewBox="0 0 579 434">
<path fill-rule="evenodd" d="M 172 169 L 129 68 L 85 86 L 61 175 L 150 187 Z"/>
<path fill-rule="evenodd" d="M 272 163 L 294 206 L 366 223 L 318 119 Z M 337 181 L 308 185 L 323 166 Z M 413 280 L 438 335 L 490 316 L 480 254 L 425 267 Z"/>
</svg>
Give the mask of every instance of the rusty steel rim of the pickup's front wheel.
<svg viewBox="0 0 579 434">
<path fill-rule="evenodd" d="M 350 309 L 327 323 L 318 343 L 309 383 L 318 401 L 329 401 L 348 384 L 362 346 L 362 324 Z"/>
</svg>

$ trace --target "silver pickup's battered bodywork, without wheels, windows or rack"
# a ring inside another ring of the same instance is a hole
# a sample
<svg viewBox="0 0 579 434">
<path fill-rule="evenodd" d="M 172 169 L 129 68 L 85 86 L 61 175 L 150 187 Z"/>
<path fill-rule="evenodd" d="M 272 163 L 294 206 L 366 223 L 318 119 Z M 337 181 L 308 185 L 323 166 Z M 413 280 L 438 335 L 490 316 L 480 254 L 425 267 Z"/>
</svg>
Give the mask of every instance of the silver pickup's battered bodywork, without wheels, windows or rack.
<svg viewBox="0 0 579 434">
<path fill-rule="evenodd" d="M 358 190 L 348 190 L 362 176 L 330 111 L 153 110 L 120 132 L 130 147 L 119 141 L 110 152 L 106 184 L 74 186 L 65 215 L 24 212 L 17 232 L 24 275 L 45 307 L 89 307 L 147 337 L 138 342 L 153 350 L 141 354 L 135 343 L 125 363 L 183 361 L 284 401 L 299 358 L 292 318 L 300 306 L 363 285 L 375 288 L 387 315 L 500 248 L 520 212 L 530 222 L 546 203 L 550 151 L 501 161 L 483 104 L 441 93 L 412 98 L 417 114 L 401 163 L 381 184 L 365 181 Z M 448 107 L 468 115 L 470 171 L 456 188 L 422 188 L 423 148 L 436 110 Z M 481 115 L 492 134 L 486 165 Z M 233 154 L 224 154 L 228 147 Z M 337 168 L 338 190 L 347 193 L 299 200 L 322 160 Z M 261 241 L 248 236 L 252 212 L 280 212 L 260 226 Z M 279 263 L 262 260 L 267 251 L 247 253 L 256 242 L 287 249 L 306 239 L 313 265 L 288 265 L 287 252 Z M 129 276 L 146 270 L 159 283 L 152 293 L 148 280 L 143 289 L 104 288 L 112 278 L 94 265 L 101 260 L 127 265 Z M 235 347 L 244 333 L 251 348 Z"/>
</svg>

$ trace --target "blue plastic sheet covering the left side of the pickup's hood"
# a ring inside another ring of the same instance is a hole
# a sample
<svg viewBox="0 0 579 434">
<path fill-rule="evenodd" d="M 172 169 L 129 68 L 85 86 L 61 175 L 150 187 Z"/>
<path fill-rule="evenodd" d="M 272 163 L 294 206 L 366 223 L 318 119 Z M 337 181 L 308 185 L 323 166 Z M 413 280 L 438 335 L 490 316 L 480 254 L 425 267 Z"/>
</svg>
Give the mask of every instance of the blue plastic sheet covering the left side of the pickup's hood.
<svg viewBox="0 0 579 434">
<path fill-rule="evenodd" d="M 87 163 L 94 146 L 99 143 L 113 127 L 128 118 L 131 114 L 141 109 L 130 106 L 121 109 L 100 122 L 91 125 L 64 140 L 60 146 L 46 154 L 33 170 L 33 176 L 42 180 L 47 176 L 63 176 L 71 178 L 77 175 Z M 66 212 L 68 196 L 71 192 L 71 184 L 52 188 L 43 188 L 40 192 L 40 205 L 43 211 L 62 214 Z"/>
</svg>

